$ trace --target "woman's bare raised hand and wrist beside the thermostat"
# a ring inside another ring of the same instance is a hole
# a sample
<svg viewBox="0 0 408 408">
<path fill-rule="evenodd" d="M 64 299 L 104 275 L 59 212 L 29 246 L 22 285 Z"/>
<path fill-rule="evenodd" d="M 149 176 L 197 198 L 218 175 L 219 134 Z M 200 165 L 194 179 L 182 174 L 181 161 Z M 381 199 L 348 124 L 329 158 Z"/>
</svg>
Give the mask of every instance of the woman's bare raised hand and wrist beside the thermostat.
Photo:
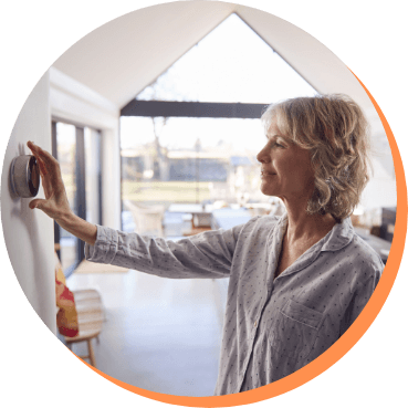
<svg viewBox="0 0 408 408">
<path fill-rule="evenodd" d="M 38 208 L 54 219 L 65 231 L 93 245 L 96 241 L 96 226 L 77 217 L 70 208 L 65 186 L 57 160 L 41 147 L 29 142 L 27 146 L 34 155 L 42 178 L 45 199 L 30 201 L 30 208 Z"/>
</svg>

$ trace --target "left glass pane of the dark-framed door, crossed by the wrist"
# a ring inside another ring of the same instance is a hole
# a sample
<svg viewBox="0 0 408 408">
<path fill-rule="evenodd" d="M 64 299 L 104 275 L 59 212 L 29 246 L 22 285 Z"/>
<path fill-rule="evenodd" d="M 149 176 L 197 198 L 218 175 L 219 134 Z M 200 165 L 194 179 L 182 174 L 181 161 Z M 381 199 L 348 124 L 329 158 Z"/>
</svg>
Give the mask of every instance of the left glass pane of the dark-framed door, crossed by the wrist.
<svg viewBox="0 0 408 408">
<path fill-rule="evenodd" d="M 62 179 L 71 208 L 76 212 L 76 137 L 75 126 L 64 123 L 56 124 L 56 148 L 61 166 Z M 76 261 L 76 238 L 64 229 L 60 229 L 61 263 L 65 270 Z"/>
</svg>

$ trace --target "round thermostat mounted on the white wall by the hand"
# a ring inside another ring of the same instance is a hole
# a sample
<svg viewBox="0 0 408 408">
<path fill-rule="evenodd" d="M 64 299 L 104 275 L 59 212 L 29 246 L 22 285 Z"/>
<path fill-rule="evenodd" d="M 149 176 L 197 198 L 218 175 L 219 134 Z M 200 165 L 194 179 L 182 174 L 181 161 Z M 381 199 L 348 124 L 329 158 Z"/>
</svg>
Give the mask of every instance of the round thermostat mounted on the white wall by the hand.
<svg viewBox="0 0 408 408">
<path fill-rule="evenodd" d="M 34 156 L 18 156 L 11 161 L 10 186 L 19 197 L 35 197 L 40 188 L 40 169 Z"/>
</svg>

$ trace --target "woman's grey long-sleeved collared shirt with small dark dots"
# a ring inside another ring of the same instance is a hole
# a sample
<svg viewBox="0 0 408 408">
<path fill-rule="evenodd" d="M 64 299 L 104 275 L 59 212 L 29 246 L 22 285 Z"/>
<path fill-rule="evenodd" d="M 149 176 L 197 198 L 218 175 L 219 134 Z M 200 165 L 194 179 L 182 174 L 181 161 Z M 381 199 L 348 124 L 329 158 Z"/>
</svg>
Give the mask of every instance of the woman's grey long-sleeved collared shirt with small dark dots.
<svg viewBox="0 0 408 408">
<path fill-rule="evenodd" d="M 97 226 L 87 260 L 164 278 L 230 278 L 215 395 L 275 381 L 312 362 L 351 326 L 384 263 L 354 231 L 335 224 L 275 280 L 287 215 L 177 242 Z"/>
</svg>

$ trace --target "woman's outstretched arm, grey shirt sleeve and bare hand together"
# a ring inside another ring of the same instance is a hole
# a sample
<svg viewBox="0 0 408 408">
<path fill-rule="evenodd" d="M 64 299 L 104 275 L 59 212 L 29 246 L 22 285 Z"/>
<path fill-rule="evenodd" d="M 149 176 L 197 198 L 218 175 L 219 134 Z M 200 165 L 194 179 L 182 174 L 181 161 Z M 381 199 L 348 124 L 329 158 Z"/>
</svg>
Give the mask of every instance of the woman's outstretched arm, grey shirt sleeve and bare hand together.
<svg viewBox="0 0 408 408">
<path fill-rule="evenodd" d="M 179 242 L 150 239 L 94 226 L 75 216 L 66 197 L 57 160 L 29 142 L 43 180 L 45 199 L 30 201 L 64 230 L 85 241 L 90 261 L 112 263 L 167 278 L 223 278 L 230 273 L 238 236 L 243 226 L 208 231 Z"/>
</svg>

